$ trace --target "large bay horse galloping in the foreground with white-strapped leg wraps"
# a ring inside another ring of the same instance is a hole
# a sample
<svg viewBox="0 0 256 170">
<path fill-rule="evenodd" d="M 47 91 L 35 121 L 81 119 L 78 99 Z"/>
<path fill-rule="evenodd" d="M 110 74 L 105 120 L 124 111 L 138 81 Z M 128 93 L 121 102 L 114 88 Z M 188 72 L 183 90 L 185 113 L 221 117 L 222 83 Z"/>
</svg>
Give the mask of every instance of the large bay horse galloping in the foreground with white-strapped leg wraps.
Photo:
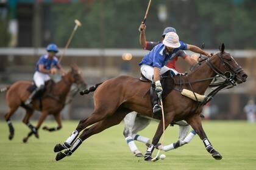
<svg viewBox="0 0 256 170">
<path fill-rule="evenodd" d="M 229 53 L 224 52 L 224 49 L 224 44 L 222 44 L 219 53 L 208 58 L 205 63 L 202 63 L 193 72 L 182 75 L 181 77 L 174 77 L 175 82 L 183 82 L 176 86 L 204 95 L 213 77 L 216 75 L 224 76 L 226 72 L 233 75 L 232 78 L 235 83 L 244 83 L 247 78 L 246 73 Z M 58 161 L 66 156 L 70 156 L 85 139 L 104 131 L 108 127 L 119 124 L 132 111 L 138 112 L 146 117 L 152 117 L 151 100 L 148 93 L 150 87 L 151 83 L 143 82 L 138 78 L 129 76 L 119 76 L 90 87 L 88 92 L 95 90 L 93 98 L 94 111 L 90 117 L 79 121 L 76 129 L 63 144 L 55 145 L 54 152 L 58 152 L 55 160 Z M 196 131 L 196 134 L 199 135 L 207 151 L 212 154 L 212 157 L 216 160 L 221 160 L 221 154 L 213 148 L 202 127 L 200 117 L 202 107 L 203 105 L 201 103 L 183 96 L 179 90 L 172 90 L 163 99 L 165 129 L 172 122 L 186 120 L 193 127 L 194 131 Z M 90 126 L 92 124 L 93 126 Z M 78 137 L 81 131 L 83 132 Z M 157 131 L 152 140 L 153 145 L 148 148 L 144 155 L 144 160 L 152 160 L 152 152 L 162 134 L 163 119 L 160 118 Z M 65 151 L 61 152 L 63 149 Z"/>
</svg>

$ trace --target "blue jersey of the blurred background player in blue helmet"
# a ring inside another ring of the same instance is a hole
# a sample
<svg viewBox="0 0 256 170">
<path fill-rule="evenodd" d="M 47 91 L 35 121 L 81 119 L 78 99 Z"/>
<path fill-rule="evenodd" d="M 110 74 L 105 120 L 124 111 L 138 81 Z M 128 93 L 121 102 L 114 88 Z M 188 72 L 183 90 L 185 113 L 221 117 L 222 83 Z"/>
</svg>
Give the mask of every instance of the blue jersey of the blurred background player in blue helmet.
<svg viewBox="0 0 256 170">
<path fill-rule="evenodd" d="M 48 55 L 42 55 L 40 56 L 39 60 L 37 61 L 37 67 L 36 67 L 36 71 L 37 72 L 40 72 L 39 71 L 39 65 L 43 65 L 44 66 L 44 69 L 46 70 L 50 70 L 52 66 L 57 66 L 59 65 L 59 61 L 57 59 L 57 57 L 54 56 L 54 58 L 52 58 L 52 60 L 50 60 L 48 58 Z"/>
</svg>

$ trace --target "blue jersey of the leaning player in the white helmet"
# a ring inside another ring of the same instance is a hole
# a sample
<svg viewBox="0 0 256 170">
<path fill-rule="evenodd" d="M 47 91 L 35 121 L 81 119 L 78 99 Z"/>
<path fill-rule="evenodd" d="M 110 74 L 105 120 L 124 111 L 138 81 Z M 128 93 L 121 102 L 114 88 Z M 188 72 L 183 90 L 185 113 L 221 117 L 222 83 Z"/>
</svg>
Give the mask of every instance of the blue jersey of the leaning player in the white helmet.
<svg viewBox="0 0 256 170">
<path fill-rule="evenodd" d="M 187 50 L 187 44 L 180 41 L 180 47 L 172 50 L 171 53 L 168 53 L 165 50 L 163 42 L 160 42 L 146 56 L 144 56 L 142 61 L 139 63 L 139 66 L 146 64 L 161 69 L 169 60 L 173 60 L 176 57 L 176 53 L 179 52 L 179 50 Z"/>
</svg>

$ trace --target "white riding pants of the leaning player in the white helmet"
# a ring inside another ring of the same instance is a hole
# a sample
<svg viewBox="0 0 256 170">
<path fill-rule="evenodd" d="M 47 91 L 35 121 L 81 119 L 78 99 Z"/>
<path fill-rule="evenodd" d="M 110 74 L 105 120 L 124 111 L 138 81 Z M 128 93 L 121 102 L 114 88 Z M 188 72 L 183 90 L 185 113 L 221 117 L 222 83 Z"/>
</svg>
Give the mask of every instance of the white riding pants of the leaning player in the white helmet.
<svg viewBox="0 0 256 170">
<path fill-rule="evenodd" d="M 160 69 L 160 75 L 162 75 L 163 73 L 167 72 L 168 70 L 172 70 L 172 72 L 177 75 L 179 72 L 177 72 L 174 69 L 171 69 L 169 67 L 163 66 Z M 142 64 L 140 67 L 140 71 L 141 73 L 144 75 L 144 77 L 148 78 L 148 80 L 152 81 L 152 77 L 154 75 L 154 67 L 146 65 L 146 64 Z"/>
</svg>

